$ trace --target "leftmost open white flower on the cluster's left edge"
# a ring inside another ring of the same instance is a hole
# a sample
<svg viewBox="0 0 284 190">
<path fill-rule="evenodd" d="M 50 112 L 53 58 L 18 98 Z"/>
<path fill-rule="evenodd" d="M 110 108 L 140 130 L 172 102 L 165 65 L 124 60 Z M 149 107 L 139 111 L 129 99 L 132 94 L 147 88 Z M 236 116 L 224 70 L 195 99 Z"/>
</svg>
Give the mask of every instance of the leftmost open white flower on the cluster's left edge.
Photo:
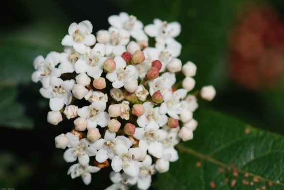
<svg viewBox="0 0 284 190">
<path fill-rule="evenodd" d="M 60 61 L 60 53 L 52 51 L 44 58 L 42 55 L 37 56 L 33 62 L 36 71 L 32 73 L 32 81 L 41 81 L 43 88 L 47 89 L 50 85 L 50 78 L 60 77 L 61 71 L 55 66 Z"/>
</svg>

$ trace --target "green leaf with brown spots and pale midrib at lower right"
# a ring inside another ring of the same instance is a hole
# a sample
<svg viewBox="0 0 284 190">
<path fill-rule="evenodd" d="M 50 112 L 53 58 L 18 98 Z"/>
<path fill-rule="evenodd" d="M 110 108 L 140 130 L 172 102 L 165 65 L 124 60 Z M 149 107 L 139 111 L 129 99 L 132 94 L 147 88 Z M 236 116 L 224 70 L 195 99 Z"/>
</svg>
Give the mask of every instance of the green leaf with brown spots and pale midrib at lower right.
<svg viewBox="0 0 284 190">
<path fill-rule="evenodd" d="M 197 111 L 194 138 L 158 174 L 158 190 L 284 189 L 284 137 L 213 111 Z"/>
</svg>

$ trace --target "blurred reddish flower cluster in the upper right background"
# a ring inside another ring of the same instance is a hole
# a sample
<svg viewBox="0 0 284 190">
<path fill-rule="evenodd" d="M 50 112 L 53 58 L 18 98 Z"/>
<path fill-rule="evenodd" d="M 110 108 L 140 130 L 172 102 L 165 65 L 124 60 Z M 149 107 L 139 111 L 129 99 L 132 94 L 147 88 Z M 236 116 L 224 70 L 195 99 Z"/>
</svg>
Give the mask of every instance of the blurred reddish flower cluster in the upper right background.
<svg viewBox="0 0 284 190">
<path fill-rule="evenodd" d="M 284 20 L 269 6 L 251 5 L 231 37 L 233 79 L 249 89 L 275 86 L 284 73 Z"/>
</svg>

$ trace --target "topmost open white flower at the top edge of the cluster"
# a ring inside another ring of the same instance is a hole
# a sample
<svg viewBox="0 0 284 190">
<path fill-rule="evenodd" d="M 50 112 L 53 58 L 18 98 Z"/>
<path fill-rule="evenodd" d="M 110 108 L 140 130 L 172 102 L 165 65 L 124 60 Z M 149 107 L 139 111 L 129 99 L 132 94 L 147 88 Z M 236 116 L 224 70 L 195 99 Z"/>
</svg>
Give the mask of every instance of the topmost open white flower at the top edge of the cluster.
<svg viewBox="0 0 284 190">
<path fill-rule="evenodd" d="M 142 22 L 137 20 L 137 18 L 133 15 L 129 16 L 127 13 L 121 12 L 119 15 L 110 16 L 108 22 L 118 29 L 125 29 L 137 41 L 148 39 L 142 29 Z"/>
</svg>

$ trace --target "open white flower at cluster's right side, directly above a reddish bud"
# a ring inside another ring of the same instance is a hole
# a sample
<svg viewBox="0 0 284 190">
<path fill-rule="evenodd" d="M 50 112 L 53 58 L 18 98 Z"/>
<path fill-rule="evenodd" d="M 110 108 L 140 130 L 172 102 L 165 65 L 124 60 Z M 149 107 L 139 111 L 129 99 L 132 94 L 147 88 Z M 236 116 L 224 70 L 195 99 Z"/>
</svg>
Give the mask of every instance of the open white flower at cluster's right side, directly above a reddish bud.
<svg viewBox="0 0 284 190">
<path fill-rule="evenodd" d="M 168 91 L 164 95 L 164 102 L 161 104 L 160 113 L 168 114 L 171 118 L 179 119 L 178 114 L 181 114 L 188 108 L 188 102 L 184 99 L 187 95 L 185 89 L 179 89 L 174 93 Z"/>
</svg>

